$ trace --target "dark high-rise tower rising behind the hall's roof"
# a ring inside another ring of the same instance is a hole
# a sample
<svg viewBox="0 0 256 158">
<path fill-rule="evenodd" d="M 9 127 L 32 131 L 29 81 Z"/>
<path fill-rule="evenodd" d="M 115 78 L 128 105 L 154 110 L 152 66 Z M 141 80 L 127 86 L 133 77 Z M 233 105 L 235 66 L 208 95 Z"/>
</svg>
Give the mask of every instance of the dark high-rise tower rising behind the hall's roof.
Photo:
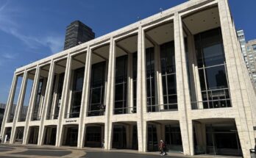
<svg viewBox="0 0 256 158">
<path fill-rule="evenodd" d="M 65 31 L 64 50 L 88 42 L 94 38 L 95 33 L 89 26 L 86 26 L 81 21 L 74 21 L 67 26 Z"/>
</svg>

